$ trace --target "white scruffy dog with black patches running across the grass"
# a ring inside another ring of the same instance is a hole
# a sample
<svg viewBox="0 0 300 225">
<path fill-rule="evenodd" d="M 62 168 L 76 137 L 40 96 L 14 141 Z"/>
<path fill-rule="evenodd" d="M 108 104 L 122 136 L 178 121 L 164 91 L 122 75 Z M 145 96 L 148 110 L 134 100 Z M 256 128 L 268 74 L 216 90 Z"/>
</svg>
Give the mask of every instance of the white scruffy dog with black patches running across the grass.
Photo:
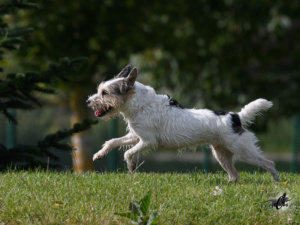
<svg viewBox="0 0 300 225">
<path fill-rule="evenodd" d="M 137 69 L 126 66 L 114 79 L 101 83 L 87 100 L 95 116 L 108 120 L 121 114 L 128 134 L 105 142 L 93 160 L 105 157 L 118 146 L 133 146 L 124 158 L 130 172 L 136 169 L 134 156 L 147 149 L 182 149 L 208 143 L 213 155 L 228 173 L 229 180 L 239 174 L 234 160 L 262 167 L 279 181 L 274 163 L 261 155 L 255 135 L 246 129 L 260 112 L 272 103 L 257 99 L 240 112 L 185 109 L 168 95 L 158 95 L 150 86 L 136 81 Z"/>
</svg>

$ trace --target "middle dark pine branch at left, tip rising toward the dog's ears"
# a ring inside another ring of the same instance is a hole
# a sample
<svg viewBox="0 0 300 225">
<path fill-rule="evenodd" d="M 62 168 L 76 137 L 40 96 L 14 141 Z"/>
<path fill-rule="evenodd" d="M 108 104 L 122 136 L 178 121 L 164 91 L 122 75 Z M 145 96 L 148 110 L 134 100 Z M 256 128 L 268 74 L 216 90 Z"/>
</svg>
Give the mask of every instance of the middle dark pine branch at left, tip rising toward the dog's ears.
<svg viewBox="0 0 300 225">
<path fill-rule="evenodd" d="M 87 57 L 79 57 L 73 60 L 69 58 L 60 59 L 60 63 L 51 64 L 48 70 L 37 73 L 10 73 L 7 75 L 7 80 L 0 80 L 0 103 L 4 106 L 15 109 L 32 109 L 30 103 L 41 106 L 40 101 L 34 97 L 34 93 L 41 92 L 44 94 L 55 94 L 55 91 L 49 88 L 42 88 L 40 85 L 47 86 L 52 83 L 55 78 L 62 81 L 69 81 L 65 77 L 66 73 L 77 71 L 81 65 L 88 61 Z M 10 99 L 10 104 L 3 103 L 5 99 Z M 14 103 L 12 105 L 12 103 Z M 1 107 L 0 107 L 1 109 Z M 1 113 L 1 112 L 0 112 Z M 2 113 L 11 120 L 9 114 Z"/>
</svg>

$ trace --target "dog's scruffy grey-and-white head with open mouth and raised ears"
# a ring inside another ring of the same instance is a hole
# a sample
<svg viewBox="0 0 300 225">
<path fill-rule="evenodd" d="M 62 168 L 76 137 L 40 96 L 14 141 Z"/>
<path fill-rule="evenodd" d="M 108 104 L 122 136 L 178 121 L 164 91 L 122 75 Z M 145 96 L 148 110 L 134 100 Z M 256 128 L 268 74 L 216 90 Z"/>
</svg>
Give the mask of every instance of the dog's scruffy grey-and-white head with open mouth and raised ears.
<svg viewBox="0 0 300 225">
<path fill-rule="evenodd" d="M 98 86 L 97 93 L 86 101 L 88 107 L 95 111 L 96 117 L 103 120 L 115 117 L 132 94 L 136 78 L 137 68 L 131 70 L 131 66 L 127 65 L 114 79 Z"/>
</svg>

